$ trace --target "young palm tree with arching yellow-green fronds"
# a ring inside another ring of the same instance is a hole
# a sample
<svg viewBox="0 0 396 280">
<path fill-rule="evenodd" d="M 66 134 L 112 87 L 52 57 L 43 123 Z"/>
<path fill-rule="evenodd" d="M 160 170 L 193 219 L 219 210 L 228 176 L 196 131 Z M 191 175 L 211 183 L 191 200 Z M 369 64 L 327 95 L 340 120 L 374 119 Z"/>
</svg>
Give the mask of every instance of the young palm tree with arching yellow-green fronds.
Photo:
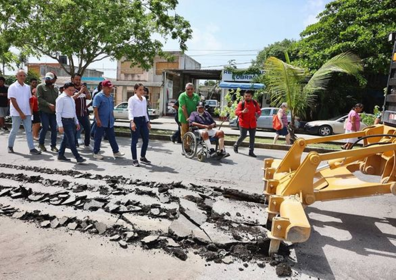
<svg viewBox="0 0 396 280">
<path fill-rule="evenodd" d="M 305 117 L 307 107 L 316 101 L 316 94 L 326 90 L 331 76 L 342 72 L 358 77 L 363 70 L 360 58 L 351 53 L 342 53 L 329 59 L 318 71 L 310 75 L 307 69 L 296 67 L 274 57 L 265 61 L 264 81 L 272 97 L 272 103 L 280 107 L 287 102 L 291 110 L 291 126 L 294 127 L 295 117 Z"/>
</svg>

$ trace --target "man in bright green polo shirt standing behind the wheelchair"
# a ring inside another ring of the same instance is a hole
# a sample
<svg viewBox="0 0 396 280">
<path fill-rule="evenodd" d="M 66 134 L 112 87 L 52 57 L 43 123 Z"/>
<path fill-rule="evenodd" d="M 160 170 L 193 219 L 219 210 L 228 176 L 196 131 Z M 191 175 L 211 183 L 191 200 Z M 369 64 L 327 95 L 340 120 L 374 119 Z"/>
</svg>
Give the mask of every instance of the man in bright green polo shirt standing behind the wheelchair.
<svg viewBox="0 0 396 280">
<path fill-rule="evenodd" d="M 179 96 L 179 122 L 181 123 L 181 138 L 188 131 L 188 117 L 196 110 L 200 101 L 198 94 L 194 92 L 194 84 L 187 83 L 186 91 Z"/>
</svg>

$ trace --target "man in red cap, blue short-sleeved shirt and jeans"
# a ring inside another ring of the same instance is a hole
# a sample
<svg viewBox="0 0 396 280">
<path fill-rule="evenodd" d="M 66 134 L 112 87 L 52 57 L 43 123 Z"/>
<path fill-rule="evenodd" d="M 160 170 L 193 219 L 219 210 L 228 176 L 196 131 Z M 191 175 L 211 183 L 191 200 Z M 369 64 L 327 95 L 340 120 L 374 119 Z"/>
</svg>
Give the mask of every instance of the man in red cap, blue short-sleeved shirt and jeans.
<svg viewBox="0 0 396 280">
<path fill-rule="evenodd" d="M 120 153 L 116 136 L 114 134 L 114 103 L 113 96 L 111 95 L 112 88 L 113 85 L 111 81 L 103 81 L 102 91 L 96 94 L 95 98 L 93 98 L 93 114 L 97 125 L 94 136 L 95 144 L 93 146 L 93 157 L 95 159 L 103 159 L 103 155 L 99 153 L 103 132 L 106 132 L 114 157 L 124 157 L 125 155 L 124 153 Z"/>
</svg>

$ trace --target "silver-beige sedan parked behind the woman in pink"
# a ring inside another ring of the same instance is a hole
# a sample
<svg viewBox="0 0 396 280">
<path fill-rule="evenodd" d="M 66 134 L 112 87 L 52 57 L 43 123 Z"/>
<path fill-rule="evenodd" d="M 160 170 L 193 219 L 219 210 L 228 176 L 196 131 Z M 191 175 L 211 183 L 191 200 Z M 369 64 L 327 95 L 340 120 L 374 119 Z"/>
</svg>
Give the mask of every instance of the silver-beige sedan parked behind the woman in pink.
<svg viewBox="0 0 396 280">
<path fill-rule="evenodd" d="M 348 115 L 341 115 L 326 121 L 310 121 L 304 130 L 310 134 L 317 134 L 319 136 L 329 136 L 331 134 L 345 133 L 344 123 Z M 360 123 L 360 130 L 367 127 L 365 123 Z"/>
</svg>

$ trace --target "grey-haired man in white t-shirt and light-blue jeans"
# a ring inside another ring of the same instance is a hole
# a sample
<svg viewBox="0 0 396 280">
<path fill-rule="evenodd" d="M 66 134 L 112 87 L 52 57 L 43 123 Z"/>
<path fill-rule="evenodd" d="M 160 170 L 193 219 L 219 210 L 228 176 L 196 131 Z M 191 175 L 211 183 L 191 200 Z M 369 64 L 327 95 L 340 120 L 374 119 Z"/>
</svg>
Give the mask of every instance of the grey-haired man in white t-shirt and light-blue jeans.
<svg viewBox="0 0 396 280">
<path fill-rule="evenodd" d="M 12 128 L 8 136 L 8 152 L 14 153 L 15 137 L 19 131 L 21 123 L 25 128 L 27 145 L 32 155 L 39 155 L 41 152 L 34 148 L 32 135 L 32 107 L 30 107 L 30 86 L 25 84 L 26 72 L 19 69 L 16 74 L 17 81 L 8 88 L 8 99 L 10 99 L 10 116 L 12 118 Z"/>
</svg>

